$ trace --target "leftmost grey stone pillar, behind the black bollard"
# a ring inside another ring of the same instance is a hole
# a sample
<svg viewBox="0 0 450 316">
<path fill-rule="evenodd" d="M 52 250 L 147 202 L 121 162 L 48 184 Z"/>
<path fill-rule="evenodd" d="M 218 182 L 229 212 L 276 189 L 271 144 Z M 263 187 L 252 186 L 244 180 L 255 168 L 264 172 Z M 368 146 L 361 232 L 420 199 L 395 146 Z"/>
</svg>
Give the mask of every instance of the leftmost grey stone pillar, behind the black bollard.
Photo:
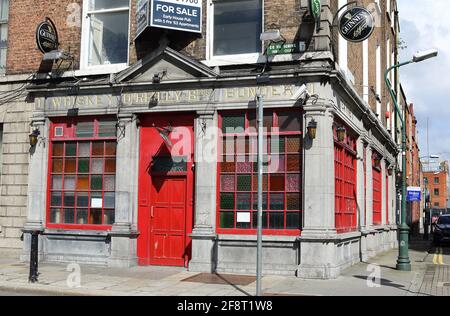
<svg viewBox="0 0 450 316">
<path fill-rule="evenodd" d="M 36 146 L 30 148 L 30 162 L 28 170 L 28 202 L 27 221 L 24 225 L 24 248 L 22 260 L 28 260 L 30 255 L 31 233 L 44 231 L 46 220 L 46 185 L 48 171 L 48 128 L 43 115 L 32 118 L 31 129 L 39 130 L 40 136 Z M 42 243 L 39 243 L 42 249 Z M 39 251 L 41 257 L 41 251 Z"/>
</svg>

